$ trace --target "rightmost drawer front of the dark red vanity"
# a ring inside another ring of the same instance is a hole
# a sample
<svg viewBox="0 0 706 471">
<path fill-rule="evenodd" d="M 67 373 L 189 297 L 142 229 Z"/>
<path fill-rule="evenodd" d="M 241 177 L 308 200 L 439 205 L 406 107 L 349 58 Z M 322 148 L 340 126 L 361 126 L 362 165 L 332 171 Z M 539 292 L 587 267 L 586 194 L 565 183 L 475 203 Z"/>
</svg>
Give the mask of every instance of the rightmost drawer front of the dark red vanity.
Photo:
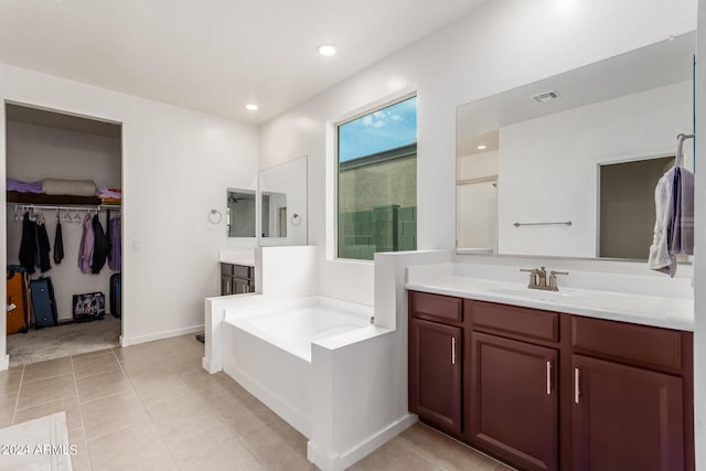
<svg viewBox="0 0 706 471">
<path fill-rule="evenodd" d="M 582 352 L 639 365 L 667 370 L 683 366 L 682 334 L 667 329 L 574 315 L 571 343 Z"/>
</svg>

